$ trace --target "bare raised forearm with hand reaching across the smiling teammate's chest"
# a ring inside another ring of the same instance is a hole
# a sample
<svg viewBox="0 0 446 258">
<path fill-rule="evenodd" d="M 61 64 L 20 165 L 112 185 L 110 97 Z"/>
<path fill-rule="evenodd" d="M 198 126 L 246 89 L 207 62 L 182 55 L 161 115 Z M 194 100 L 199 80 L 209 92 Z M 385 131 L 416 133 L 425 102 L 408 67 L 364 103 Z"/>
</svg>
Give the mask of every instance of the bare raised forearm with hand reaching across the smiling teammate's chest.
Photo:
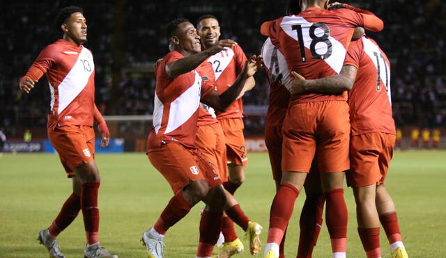
<svg viewBox="0 0 446 258">
<path fill-rule="evenodd" d="M 201 51 L 197 54 L 187 56 L 185 58 L 178 59 L 175 62 L 166 65 L 166 73 L 171 77 L 175 78 L 186 72 L 190 72 L 197 68 L 203 61 L 209 56 L 222 51 L 225 47 L 233 47 L 237 43 L 233 40 L 219 40 L 217 44 L 209 49 Z"/>
</svg>

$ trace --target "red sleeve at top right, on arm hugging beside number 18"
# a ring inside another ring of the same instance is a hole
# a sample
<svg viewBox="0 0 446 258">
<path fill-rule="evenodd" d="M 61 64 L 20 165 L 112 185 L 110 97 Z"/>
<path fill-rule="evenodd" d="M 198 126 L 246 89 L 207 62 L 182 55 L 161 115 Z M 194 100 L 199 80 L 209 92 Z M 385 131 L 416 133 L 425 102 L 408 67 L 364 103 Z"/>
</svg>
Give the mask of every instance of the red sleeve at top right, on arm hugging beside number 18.
<svg viewBox="0 0 446 258">
<path fill-rule="evenodd" d="M 344 5 L 346 8 L 335 9 L 341 20 L 348 26 L 361 26 L 369 31 L 381 31 L 384 28 L 383 21 L 376 17 L 373 13 L 354 8 L 353 6 Z"/>
</svg>

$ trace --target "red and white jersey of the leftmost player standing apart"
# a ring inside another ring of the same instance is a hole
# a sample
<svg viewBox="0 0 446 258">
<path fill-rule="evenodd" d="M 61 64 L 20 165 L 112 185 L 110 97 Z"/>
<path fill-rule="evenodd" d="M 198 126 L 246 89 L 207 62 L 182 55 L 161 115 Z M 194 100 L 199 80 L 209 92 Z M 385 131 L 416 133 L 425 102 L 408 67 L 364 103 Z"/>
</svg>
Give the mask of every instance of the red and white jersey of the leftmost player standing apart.
<svg viewBox="0 0 446 258">
<path fill-rule="evenodd" d="M 89 49 L 57 40 L 43 49 L 24 77 L 46 74 L 51 92 L 47 126 L 93 126 L 95 64 Z"/>
</svg>

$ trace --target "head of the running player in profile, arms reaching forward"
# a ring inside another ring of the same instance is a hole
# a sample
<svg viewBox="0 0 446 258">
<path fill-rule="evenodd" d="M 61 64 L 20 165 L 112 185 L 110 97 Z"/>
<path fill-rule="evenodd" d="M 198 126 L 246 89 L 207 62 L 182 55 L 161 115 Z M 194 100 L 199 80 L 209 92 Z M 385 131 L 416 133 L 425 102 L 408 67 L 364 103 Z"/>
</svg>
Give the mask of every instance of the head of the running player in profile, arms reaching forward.
<svg viewBox="0 0 446 258">
<path fill-rule="evenodd" d="M 176 35 L 172 37 L 172 43 L 175 45 L 175 49 L 184 56 L 201 52 L 200 36 L 190 22 L 178 24 Z"/>
</svg>

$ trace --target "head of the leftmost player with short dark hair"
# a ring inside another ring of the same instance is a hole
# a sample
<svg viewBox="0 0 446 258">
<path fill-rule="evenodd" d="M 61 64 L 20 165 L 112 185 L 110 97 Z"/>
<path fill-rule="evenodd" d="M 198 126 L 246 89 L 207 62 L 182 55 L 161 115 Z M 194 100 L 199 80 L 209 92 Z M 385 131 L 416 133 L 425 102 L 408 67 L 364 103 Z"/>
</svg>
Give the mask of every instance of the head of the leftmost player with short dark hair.
<svg viewBox="0 0 446 258">
<path fill-rule="evenodd" d="M 61 26 L 63 38 L 81 45 L 86 42 L 86 19 L 82 13 L 72 13 Z"/>
</svg>

